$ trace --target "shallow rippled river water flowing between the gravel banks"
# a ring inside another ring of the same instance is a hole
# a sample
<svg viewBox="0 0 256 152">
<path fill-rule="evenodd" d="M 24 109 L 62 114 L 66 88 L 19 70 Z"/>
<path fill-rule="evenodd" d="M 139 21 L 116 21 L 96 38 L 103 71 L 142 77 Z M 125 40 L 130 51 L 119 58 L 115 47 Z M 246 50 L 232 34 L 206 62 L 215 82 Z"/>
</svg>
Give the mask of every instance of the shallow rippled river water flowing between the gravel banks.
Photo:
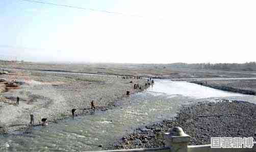
<svg viewBox="0 0 256 152">
<path fill-rule="evenodd" d="M 146 91 L 117 101 L 118 106 L 107 111 L 33 127 L 24 134 L 0 136 L 0 151 L 102 150 L 139 126 L 174 117 L 182 105 L 219 98 L 256 101 L 251 95 L 188 82 L 156 80 Z"/>
</svg>

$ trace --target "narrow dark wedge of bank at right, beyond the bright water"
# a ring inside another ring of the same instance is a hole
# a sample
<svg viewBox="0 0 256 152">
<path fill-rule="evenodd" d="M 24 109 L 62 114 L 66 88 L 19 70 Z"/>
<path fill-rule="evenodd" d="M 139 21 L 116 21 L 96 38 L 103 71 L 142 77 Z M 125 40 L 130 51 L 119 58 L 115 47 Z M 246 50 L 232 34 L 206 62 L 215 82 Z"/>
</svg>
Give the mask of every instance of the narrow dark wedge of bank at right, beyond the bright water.
<svg viewBox="0 0 256 152">
<path fill-rule="evenodd" d="M 211 80 L 211 81 L 190 81 L 190 83 L 211 87 L 223 91 L 231 91 L 242 94 L 256 94 L 256 80 Z"/>
</svg>

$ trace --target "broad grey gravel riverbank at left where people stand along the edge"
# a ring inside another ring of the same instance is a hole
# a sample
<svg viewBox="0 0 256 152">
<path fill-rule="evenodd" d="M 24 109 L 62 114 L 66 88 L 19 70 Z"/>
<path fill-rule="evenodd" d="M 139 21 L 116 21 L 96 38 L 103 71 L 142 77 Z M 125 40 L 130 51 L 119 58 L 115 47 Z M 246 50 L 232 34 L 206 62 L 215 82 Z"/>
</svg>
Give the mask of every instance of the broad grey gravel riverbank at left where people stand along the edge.
<svg viewBox="0 0 256 152">
<path fill-rule="evenodd" d="M 0 133 L 12 133 L 29 127 L 30 113 L 34 115 L 35 126 L 41 118 L 49 122 L 76 114 L 94 112 L 90 102 L 95 101 L 96 112 L 115 106 L 115 102 L 130 94 L 145 89 L 144 79 L 122 79 L 106 75 L 83 75 L 30 70 L 14 70 L 0 75 L 7 82 L 20 82 L 18 89 L 0 94 Z M 140 89 L 134 89 L 139 84 Z M 20 98 L 16 105 L 16 97 Z"/>
</svg>

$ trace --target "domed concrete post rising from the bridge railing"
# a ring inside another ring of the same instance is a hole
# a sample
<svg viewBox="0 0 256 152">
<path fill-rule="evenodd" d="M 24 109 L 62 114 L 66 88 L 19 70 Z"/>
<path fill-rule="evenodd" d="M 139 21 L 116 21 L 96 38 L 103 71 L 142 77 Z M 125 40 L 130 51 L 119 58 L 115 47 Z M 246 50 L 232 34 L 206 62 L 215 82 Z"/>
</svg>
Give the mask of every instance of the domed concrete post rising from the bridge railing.
<svg viewBox="0 0 256 152">
<path fill-rule="evenodd" d="M 170 147 L 171 152 L 187 152 L 190 136 L 184 133 L 181 127 L 172 128 L 170 133 L 165 133 L 165 146 Z"/>
</svg>

